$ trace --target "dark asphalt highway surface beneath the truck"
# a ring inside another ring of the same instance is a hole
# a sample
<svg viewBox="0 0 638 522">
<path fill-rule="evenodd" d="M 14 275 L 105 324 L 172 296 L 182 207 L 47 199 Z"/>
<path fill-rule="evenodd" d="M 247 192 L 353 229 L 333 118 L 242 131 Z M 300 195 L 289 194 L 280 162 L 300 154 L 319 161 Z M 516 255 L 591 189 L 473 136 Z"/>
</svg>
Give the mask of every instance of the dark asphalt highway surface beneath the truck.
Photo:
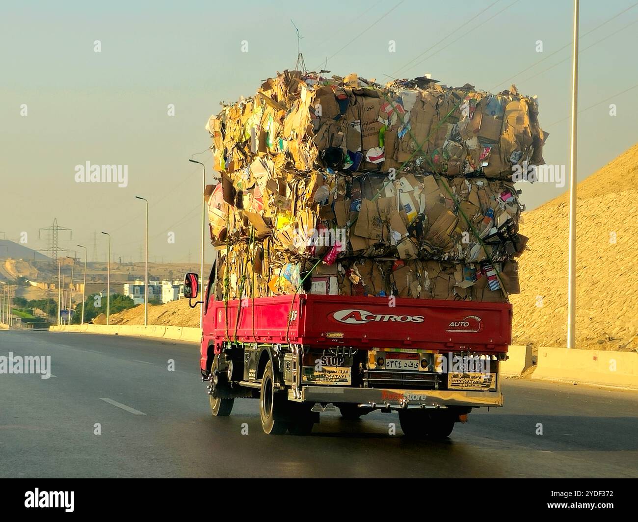
<svg viewBox="0 0 638 522">
<path fill-rule="evenodd" d="M 380 412 L 324 412 L 312 435 L 275 436 L 253 399 L 210 415 L 197 345 L 0 331 L 8 352 L 50 355 L 55 377 L 0 374 L 0 477 L 638 476 L 635 392 L 507 379 L 505 407 L 444 442 L 407 440 Z"/>
</svg>

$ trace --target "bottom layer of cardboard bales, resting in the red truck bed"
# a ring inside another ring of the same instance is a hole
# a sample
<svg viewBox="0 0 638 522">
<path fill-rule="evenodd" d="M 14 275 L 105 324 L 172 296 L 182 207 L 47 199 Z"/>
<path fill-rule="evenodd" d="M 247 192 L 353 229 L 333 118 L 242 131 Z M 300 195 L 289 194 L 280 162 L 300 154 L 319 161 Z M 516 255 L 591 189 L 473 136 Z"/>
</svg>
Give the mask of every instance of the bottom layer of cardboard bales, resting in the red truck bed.
<svg viewBox="0 0 638 522">
<path fill-rule="evenodd" d="M 506 302 L 507 294 L 520 292 L 514 261 L 492 265 L 345 258 L 333 264 L 315 264 L 276 251 L 269 241 L 253 240 L 221 250 L 216 299 L 246 299 L 246 306 L 251 306 L 253 297 L 308 292 Z"/>
</svg>

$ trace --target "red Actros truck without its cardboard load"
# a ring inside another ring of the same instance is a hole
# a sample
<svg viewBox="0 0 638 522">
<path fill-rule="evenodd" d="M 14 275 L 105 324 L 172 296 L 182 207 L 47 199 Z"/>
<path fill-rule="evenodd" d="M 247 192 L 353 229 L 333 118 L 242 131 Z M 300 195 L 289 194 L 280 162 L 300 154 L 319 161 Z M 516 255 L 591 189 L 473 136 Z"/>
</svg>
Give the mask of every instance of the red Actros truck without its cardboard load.
<svg viewBox="0 0 638 522">
<path fill-rule="evenodd" d="M 445 438 L 472 408 L 503 405 L 510 304 L 308 293 L 216 301 L 215 278 L 213 267 L 199 302 L 212 415 L 255 398 L 265 433 L 301 435 L 332 404 L 350 419 L 397 411 L 405 435 Z M 185 297 L 198 293 L 187 274 Z"/>
</svg>

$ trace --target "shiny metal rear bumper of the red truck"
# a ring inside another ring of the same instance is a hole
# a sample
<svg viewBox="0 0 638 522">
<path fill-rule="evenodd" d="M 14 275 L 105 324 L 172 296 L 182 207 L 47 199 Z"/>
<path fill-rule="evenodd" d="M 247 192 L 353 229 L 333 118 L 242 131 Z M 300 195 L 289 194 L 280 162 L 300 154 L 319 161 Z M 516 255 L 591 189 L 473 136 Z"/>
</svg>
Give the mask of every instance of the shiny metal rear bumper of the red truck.
<svg viewBox="0 0 638 522">
<path fill-rule="evenodd" d="M 340 386 L 304 386 L 302 400 L 316 403 L 357 403 L 373 408 L 447 408 L 449 406 L 503 406 L 501 392 L 430 391 Z"/>
</svg>

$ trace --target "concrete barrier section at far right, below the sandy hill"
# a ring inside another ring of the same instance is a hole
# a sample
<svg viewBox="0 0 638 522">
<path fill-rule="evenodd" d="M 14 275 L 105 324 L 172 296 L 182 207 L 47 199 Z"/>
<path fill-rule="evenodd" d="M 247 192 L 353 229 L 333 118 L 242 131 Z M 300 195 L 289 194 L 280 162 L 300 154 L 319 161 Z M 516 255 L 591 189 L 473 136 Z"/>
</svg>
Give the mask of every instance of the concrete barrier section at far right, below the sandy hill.
<svg viewBox="0 0 638 522">
<path fill-rule="evenodd" d="M 540 347 L 531 377 L 638 389 L 638 354 Z"/>
</svg>

